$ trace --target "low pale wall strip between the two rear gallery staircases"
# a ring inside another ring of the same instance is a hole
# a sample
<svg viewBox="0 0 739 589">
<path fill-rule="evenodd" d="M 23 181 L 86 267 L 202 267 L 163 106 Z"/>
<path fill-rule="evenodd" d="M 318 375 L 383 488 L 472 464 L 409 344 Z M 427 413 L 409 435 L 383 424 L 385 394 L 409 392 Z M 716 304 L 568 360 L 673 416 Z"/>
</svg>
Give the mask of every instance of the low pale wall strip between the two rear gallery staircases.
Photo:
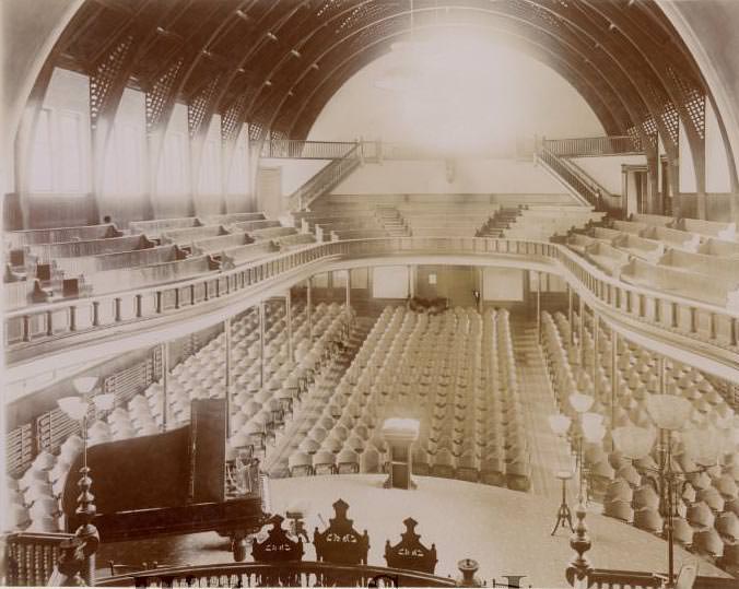
<svg viewBox="0 0 739 589">
<path fill-rule="evenodd" d="M 365 164 L 337 186 L 335 195 L 543 193 L 562 195 L 562 185 L 541 167 L 515 160 L 460 160 L 453 181 L 441 160 Z"/>
</svg>

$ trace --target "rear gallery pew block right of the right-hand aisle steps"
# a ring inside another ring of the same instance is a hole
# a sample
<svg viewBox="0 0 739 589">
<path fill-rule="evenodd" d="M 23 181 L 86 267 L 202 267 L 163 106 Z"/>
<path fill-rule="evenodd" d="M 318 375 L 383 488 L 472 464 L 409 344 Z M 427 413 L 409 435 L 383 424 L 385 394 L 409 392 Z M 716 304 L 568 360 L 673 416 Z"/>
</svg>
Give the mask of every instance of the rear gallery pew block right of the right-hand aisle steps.
<svg viewBox="0 0 739 589">
<path fill-rule="evenodd" d="M 511 239 L 541 239 L 548 242 L 554 235 L 564 235 L 573 227 L 584 227 L 600 222 L 605 213 L 591 207 L 526 207 L 513 219 L 509 228 L 503 232 Z"/>
</svg>

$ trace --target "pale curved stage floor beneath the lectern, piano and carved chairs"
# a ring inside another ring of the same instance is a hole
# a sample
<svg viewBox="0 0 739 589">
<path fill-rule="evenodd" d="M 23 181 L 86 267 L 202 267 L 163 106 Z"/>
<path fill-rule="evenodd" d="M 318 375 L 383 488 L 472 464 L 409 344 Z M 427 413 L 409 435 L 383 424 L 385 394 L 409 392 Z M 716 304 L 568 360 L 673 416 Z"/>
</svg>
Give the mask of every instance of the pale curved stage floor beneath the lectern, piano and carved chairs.
<svg viewBox="0 0 739 589">
<path fill-rule="evenodd" d="M 493 585 L 505 576 L 523 576 L 521 587 L 567 587 L 564 569 L 574 554 L 570 531 L 550 535 L 559 502 L 494 486 L 437 478 L 417 476 L 415 491 L 382 488 L 384 475 L 349 474 L 280 479 L 271 481 L 272 509 L 284 515 L 296 502 L 308 506 L 306 529 L 313 538 L 333 515 L 331 505 L 341 498 L 350 505 L 354 527 L 370 534 L 371 565 L 385 566 L 385 541 L 396 543 L 402 520 L 414 518 L 421 541 L 436 544 L 436 574 L 456 577 L 457 562 L 474 558 L 479 577 Z M 574 497 L 570 498 L 574 510 Z M 593 549 L 588 556 L 597 568 L 665 572 L 667 543 L 612 518 L 588 514 Z M 168 565 L 231 562 L 227 542 L 218 534 L 200 533 L 150 541 L 103 544 L 97 566 L 101 575 L 109 558 L 125 564 L 142 559 Z M 249 556 L 250 558 L 250 556 Z M 306 545 L 306 561 L 315 559 Z M 676 547 L 676 567 L 695 556 Z M 700 575 L 728 577 L 700 561 Z"/>
</svg>

